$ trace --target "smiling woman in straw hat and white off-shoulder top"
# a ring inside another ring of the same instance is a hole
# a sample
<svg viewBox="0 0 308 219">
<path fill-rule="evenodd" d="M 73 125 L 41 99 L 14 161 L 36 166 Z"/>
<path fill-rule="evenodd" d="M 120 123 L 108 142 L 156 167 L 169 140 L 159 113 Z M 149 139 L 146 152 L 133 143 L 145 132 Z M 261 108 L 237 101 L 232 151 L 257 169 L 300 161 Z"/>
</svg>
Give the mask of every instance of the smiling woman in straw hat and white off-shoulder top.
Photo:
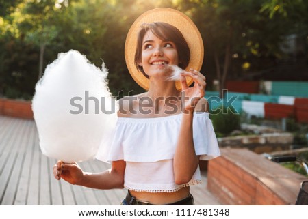
<svg viewBox="0 0 308 219">
<path fill-rule="evenodd" d="M 189 32 L 186 37 L 183 31 Z M 55 178 L 90 188 L 127 188 L 122 205 L 194 205 L 190 186 L 201 182 L 198 161 L 220 155 L 203 98 L 205 76 L 190 69 L 177 82 L 166 78 L 171 65 L 200 68 L 200 33 L 181 12 L 151 10 L 132 25 L 125 58 L 135 81 L 148 91 L 119 101 L 114 138 L 97 154 L 111 169 L 85 173 L 59 161 Z"/>
</svg>

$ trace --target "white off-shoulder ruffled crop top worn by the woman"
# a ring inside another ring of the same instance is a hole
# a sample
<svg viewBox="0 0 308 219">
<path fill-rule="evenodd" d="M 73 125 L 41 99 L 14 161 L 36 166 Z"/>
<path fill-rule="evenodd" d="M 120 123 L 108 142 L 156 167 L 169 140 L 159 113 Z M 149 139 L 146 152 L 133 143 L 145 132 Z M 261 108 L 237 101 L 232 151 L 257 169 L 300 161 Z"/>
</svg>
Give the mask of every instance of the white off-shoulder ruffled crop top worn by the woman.
<svg viewBox="0 0 308 219">
<path fill-rule="evenodd" d="M 97 159 L 125 160 L 125 188 L 138 192 L 175 192 L 201 183 L 197 168 L 188 184 L 177 185 L 173 158 L 181 125 L 181 114 L 155 118 L 119 117 L 110 141 L 104 141 Z M 200 160 L 220 156 L 209 113 L 194 113 L 193 138 Z M 110 145 L 109 147 L 107 145 Z"/>
</svg>

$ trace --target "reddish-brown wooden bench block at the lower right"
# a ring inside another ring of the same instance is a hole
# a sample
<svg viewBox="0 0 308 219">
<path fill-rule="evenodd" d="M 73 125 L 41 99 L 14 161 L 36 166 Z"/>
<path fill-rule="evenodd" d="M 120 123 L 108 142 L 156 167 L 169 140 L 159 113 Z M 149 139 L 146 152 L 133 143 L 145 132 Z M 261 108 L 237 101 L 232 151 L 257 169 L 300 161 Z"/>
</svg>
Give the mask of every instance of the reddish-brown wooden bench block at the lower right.
<svg viewBox="0 0 308 219">
<path fill-rule="evenodd" d="M 223 205 L 294 205 L 308 178 L 248 149 L 220 149 L 210 160 L 207 188 Z"/>
</svg>

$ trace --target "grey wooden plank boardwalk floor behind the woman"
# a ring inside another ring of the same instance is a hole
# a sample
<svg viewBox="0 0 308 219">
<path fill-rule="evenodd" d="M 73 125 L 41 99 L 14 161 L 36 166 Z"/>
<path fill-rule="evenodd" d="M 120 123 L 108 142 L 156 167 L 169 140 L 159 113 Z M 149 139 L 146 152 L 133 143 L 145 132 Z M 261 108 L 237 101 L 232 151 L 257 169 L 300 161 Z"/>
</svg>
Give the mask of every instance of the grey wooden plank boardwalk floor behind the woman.
<svg viewBox="0 0 308 219">
<path fill-rule="evenodd" d="M 33 120 L 0 115 L 0 205 L 119 205 L 127 190 L 96 190 L 57 181 L 56 160 L 44 156 Z M 99 160 L 79 164 L 84 171 L 110 168 Z M 220 205 L 203 184 L 191 186 L 196 205 Z"/>
</svg>

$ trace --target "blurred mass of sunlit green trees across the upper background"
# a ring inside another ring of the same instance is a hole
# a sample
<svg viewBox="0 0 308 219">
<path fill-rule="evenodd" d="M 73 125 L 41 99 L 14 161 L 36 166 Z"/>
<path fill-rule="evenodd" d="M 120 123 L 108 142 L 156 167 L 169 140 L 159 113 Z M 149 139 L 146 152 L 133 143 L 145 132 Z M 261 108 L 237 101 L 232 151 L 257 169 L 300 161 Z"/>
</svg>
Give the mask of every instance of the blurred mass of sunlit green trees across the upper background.
<svg viewBox="0 0 308 219">
<path fill-rule="evenodd" d="M 0 95 L 12 87 L 21 96 L 33 95 L 42 45 L 43 68 L 58 53 L 75 49 L 97 66 L 103 59 L 115 96 L 142 92 L 125 65 L 125 38 L 140 14 L 157 7 L 181 10 L 194 20 L 205 42 L 201 72 L 207 72 L 209 84 L 218 69 L 232 78 L 247 74 L 243 63 L 249 63 L 250 71 L 271 67 L 283 57 L 283 36 L 308 27 L 308 3 L 303 0 L 0 1 Z M 237 58 L 225 69 L 226 57 L 233 54 Z"/>
</svg>

